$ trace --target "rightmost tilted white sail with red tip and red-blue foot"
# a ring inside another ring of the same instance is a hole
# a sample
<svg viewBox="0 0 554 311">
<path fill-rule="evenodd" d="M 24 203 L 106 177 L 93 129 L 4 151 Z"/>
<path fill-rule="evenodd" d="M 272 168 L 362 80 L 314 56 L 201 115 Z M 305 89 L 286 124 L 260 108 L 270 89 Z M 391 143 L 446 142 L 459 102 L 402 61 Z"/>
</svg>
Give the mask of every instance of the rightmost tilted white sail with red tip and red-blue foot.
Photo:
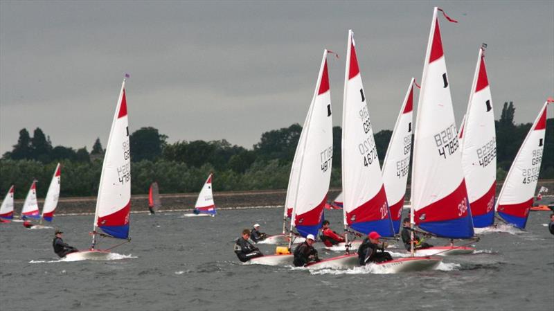
<svg viewBox="0 0 554 311">
<path fill-rule="evenodd" d="M 541 170 L 547 105 L 548 101 L 519 148 L 494 208 L 503 220 L 521 229 L 525 228 L 533 206 L 533 193 Z"/>
</svg>

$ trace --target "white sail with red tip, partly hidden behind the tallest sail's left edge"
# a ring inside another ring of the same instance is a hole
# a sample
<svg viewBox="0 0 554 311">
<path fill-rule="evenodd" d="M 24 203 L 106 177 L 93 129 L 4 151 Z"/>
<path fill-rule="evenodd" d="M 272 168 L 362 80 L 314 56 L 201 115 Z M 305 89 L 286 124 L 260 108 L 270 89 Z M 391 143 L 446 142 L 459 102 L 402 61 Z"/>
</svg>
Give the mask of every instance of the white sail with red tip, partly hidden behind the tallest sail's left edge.
<svg viewBox="0 0 554 311">
<path fill-rule="evenodd" d="M 388 143 L 383 162 L 383 182 L 395 233 L 400 231 L 400 217 L 402 217 L 410 170 L 411 136 L 413 134 L 413 82 L 412 78 L 402 107 L 400 107 L 400 114 L 396 119 L 393 135 Z"/>
</svg>

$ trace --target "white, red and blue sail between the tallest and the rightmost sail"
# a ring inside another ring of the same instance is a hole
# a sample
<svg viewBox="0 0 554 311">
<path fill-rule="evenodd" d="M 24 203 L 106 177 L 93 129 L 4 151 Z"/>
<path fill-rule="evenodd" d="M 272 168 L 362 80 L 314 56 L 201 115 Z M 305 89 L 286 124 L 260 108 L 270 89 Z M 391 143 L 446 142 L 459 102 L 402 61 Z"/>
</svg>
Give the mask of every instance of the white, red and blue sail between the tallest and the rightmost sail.
<svg viewBox="0 0 554 311">
<path fill-rule="evenodd" d="M 462 168 L 473 225 L 483 228 L 494 224 L 497 187 L 497 135 L 483 48 L 479 48 L 462 130 Z"/>
</svg>

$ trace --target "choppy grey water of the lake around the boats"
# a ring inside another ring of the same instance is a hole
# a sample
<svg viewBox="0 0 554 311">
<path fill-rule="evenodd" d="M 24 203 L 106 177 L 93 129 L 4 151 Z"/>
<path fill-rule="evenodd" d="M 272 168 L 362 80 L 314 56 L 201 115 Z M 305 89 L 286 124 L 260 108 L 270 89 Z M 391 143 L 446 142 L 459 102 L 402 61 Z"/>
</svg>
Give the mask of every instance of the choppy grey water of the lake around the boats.
<svg viewBox="0 0 554 311">
<path fill-rule="evenodd" d="M 262 231 L 278 233 L 282 213 L 134 214 L 132 242 L 114 250 L 118 260 L 109 261 L 60 261 L 51 247 L 53 229 L 2 224 L 0 309 L 554 310 L 554 236 L 543 225 L 550 213 L 531 213 L 527 232 L 483 232 L 477 254 L 447 257 L 438 271 L 309 272 L 238 262 L 233 239 L 240 231 L 258 222 Z M 340 228 L 341 211 L 326 217 Z M 92 218 L 56 217 L 53 226 L 65 231 L 65 242 L 86 248 Z"/>
</svg>

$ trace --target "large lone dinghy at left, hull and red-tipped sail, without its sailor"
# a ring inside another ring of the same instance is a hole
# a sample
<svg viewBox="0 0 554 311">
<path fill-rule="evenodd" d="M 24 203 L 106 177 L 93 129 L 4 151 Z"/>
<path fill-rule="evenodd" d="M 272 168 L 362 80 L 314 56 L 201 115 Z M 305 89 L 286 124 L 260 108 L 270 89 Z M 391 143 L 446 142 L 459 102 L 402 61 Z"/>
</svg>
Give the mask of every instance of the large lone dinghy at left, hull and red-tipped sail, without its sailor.
<svg viewBox="0 0 554 311">
<path fill-rule="evenodd" d="M 126 78 L 129 75 L 125 75 Z M 129 216 L 131 213 L 131 154 L 129 152 L 129 121 L 125 98 L 125 78 L 121 85 L 116 112 L 111 123 L 96 211 L 92 230 L 91 248 L 67 254 L 66 260 L 109 260 L 109 250 L 129 242 Z M 101 229 L 104 233 L 100 233 Z M 98 238 L 126 240 L 109 249 L 97 249 Z"/>
</svg>

